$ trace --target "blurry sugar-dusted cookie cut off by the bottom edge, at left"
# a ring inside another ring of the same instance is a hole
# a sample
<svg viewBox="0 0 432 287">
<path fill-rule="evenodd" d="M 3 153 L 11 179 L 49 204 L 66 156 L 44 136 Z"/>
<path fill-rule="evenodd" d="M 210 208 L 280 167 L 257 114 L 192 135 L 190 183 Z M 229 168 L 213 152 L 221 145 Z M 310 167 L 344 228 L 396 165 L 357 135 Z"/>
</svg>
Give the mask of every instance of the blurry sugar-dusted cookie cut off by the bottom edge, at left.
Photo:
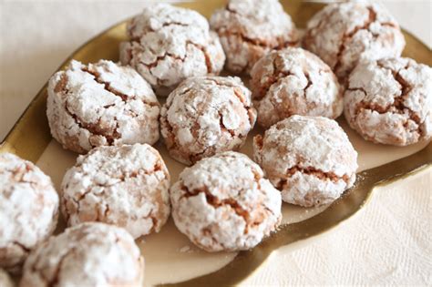
<svg viewBox="0 0 432 287">
<path fill-rule="evenodd" d="M 116 226 L 82 223 L 51 237 L 24 265 L 20 287 L 142 286 L 144 258 Z"/>
</svg>

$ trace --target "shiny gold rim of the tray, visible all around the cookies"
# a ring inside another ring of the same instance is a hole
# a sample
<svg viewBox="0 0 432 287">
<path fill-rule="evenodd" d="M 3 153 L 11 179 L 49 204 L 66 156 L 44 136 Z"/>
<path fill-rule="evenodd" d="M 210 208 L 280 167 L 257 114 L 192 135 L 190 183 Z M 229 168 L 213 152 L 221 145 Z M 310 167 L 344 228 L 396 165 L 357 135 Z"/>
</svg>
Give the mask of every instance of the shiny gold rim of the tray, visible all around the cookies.
<svg viewBox="0 0 432 287">
<path fill-rule="evenodd" d="M 180 4 L 197 10 L 202 15 L 209 17 L 211 12 L 225 1 L 209 0 Z M 301 1 L 282 1 L 285 10 L 292 15 L 293 21 L 299 27 L 304 27 L 311 15 L 314 15 L 323 5 Z M 126 39 L 126 21 L 108 28 L 100 35 L 90 39 L 86 44 L 79 47 L 76 52 L 67 58 L 59 67 L 67 66 L 74 58 L 81 62 L 96 62 L 101 58 L 118 60 L 118 44 Z M 406 49 L 404 56 L 409 56 L 417 62 L 432 66 L 432 52 L 416 37 L 404 31 L 406 36 Z M 344 120 L 340 120 L 344 125 Z M 255 129 L 254 132 L 262 132 Z M 355 136 L 353 136 L 355 137 Z M 6 136 L 0 146 L 0 152 L 13 152 L 16 155 L 38 161 L 51 143 L 51 135 L 46 120 L 46 85 L 37 93 L 24 114 L 15 123 L 14 128 Z M 160 146 L 160 145 L 159 145 Z M 158 147 L 159 147 L 158 146 Z M 251 251 L 237 253 L 234 259 L 221 269 L 210 272 L 187 281 L 166 285 L 232 285 L 241 282 L 251 275 L 252 272 L 262 264 L 269 255 L 278 248 L 301 241 L 324 231 L 328 231 L 338 223 L 350 218 L 358 210 L 361 210 L 376 188 L 386 185 L 396 179 L 402 179 L 419 170 L 431 169 L 432 167 L 432 144 L 423 144 L 420 148 L 379 148 L 375 152 L 398 152 L 404 155 L 403 159 L 396 161 L 386 159 L 387 163 L 372 169 L 366 169 L 358 173 L 355 187 L 347 190 L 344 196 L 336 200 L 324 211 L 317 215 L 294 223 L 283 224 L 277 232 L 266 238 L 260 245 Z M 406 149 L 407 150 L 407 149 Z M 65 151 L 66 152 L 66 151 Z M 406 156 L 407 155 L 407 156 Z M 402 157 L 402 156 L 400 156 Z M 399 157 L 399 158 L 400 158 Z M 389 162 L 391 161 L 391 162 Z M 388 163 L 389 162 L 389 163 Z"/>
</svg>

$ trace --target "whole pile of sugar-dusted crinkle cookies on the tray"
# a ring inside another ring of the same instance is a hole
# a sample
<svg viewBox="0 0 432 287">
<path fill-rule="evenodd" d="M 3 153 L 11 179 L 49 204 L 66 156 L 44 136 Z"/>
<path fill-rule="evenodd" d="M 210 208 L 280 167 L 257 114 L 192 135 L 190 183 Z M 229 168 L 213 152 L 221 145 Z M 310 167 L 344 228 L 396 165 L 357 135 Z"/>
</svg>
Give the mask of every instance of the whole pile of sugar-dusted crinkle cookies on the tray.
<svg viewBox="0 0 432 287">
<path fill-rule="evenodd" d="M 49 81 L 52 136 L 82 154 L 60 196 L 34 164 L 0 155 L 0 267 L 23 287 L 140 285 L 134 240 L 170 214 L 205 251 L 251 249 L 277 229 L 282 201 L 329 204 L 354 185 L 342 113 L 375 143 L 432 137 L 432 70 L 400 57 L 404 36 L 380 5 L 327 5 L 303 37 L 277 0 L 231 0 L 210 24 L 149 5 L 127 31 L 121 64 L 72 60 Z M 237 150 L 255 122 L 266 130 L 252 160 Z M 190 166 L 172 185 L 151 147 L 160 135 Z M 51 236 L 59 210 L 69 228 Z"/>
</svg>

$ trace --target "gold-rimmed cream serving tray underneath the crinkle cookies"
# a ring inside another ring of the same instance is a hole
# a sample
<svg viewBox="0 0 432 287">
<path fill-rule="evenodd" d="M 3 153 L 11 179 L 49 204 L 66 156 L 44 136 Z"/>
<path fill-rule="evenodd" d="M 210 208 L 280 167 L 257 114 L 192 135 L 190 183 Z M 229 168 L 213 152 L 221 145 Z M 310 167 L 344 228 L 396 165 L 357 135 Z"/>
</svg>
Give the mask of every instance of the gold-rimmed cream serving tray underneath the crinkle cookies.
<svg viewBox="0 0 432 287">
<path fill-rule="evenodd" d="M 179 4 L 209 17 L 215 8 L 224 5 L 223 0 L 197 1 Z M 292 15 L 296 26 L 304 27 L 307 20 L 323 5 L 300 1 L 282 1 L 285 10 Z M 118 60 L 118 44 L 126 40 L 127 20 L 108 28 L 100 35 L 79 47 L 59 67 L 63 69 L 74 58 L 83 63 L 99 59 Z M 404 56 L 432 66 L 432 53 L 417 38 L 403 31 L 406 36 Z M 243 78 L 247 84 L 247 78 Z M 163 103 L 164 99 L 159 98 Z M 172 220 L 158 234 L 140 238 L 137 243 L 146 260 L 145 285 L 231 285 L 241 282 L 257 270 L 263 261 L 282 247 L 283 251 L 295 248 L 295 241 L 302 241 L 328 231 L 347 220 L 365 207 L 373 191 L 396 179 L 402 179 L 419 170 L 432 167 L 432 144 L 417 143 L 405 148 L 375 145 L 366 142 L 349 128 L 343 117 L 338 119 L 359 154 L 359 170 L 355 187 L 346 190 L 343 197 L 333 204 L 320 208 L 300 208 L 283 203 L 283 224 L 270 237 L 251 251 L 208 253 L 201 251 L 177 231 Z M 254 128 L 247 138 L 242 152 L 252 156 L 252 138 L 263 133 Z M 175 182 L 182 164 L 170 159 L 161 142 L 155 145 L 170 169 L 171 182 Z M 46 119 L 46 85 L 37 93 L 24 114 L 15 123 L 0 146 L 0 152 L 13 152 L 35 162 L 53 179 L 57 190 L 66 169 L 74 165 L 77 154 L 62 149 L 51 138 Z M 60 218 L 57 233 L 65 229 Z"/>
</svg>

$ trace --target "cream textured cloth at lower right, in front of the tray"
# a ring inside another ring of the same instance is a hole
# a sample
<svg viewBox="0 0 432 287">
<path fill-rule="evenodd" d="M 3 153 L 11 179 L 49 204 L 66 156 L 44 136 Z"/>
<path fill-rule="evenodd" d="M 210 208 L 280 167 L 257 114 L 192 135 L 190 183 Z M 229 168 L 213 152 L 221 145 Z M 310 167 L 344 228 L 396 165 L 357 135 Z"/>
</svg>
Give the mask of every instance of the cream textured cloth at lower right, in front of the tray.
<svg viewBox="0 0 432 287">
<path fill-rule="evenodd" d="M 430 286 L 431 187 L 429 169 L 375 190 L 354 218 L 276 252 L 243 285 Z"/>
</svg>

